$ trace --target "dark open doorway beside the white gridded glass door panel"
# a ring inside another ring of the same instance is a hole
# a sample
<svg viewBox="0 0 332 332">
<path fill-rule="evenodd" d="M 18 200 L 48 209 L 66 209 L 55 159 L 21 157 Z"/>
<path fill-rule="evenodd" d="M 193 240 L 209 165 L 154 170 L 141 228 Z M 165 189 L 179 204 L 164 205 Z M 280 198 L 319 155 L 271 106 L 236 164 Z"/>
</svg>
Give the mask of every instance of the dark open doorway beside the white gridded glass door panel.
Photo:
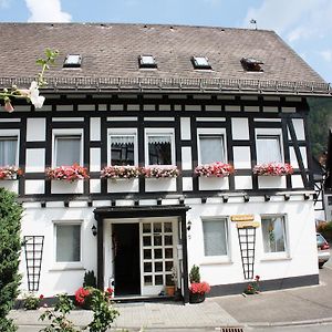
<svg viewBox="0 0 332 332">
<path fill-rule="evenodd" d="M 139 225 L 113 224 L 115 295 L 141 294 Z"/>
</svg>

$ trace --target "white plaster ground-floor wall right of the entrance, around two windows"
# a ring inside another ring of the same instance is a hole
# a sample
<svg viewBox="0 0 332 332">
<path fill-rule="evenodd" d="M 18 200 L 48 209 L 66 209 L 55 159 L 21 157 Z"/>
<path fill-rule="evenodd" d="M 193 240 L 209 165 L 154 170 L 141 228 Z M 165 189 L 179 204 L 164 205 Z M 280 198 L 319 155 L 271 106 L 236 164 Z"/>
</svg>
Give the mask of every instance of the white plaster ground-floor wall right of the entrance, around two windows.
<svg viewBox="0 0 332 332">
<path fill-rule="evenodd" d="M 282 259 L 267 259 L 262 249 L 261 227 L 257 228 L 255 276 L 262 280 L 308 276 L 318 273 L 314 212 L 312 201 L 270 201 L 246 204 L 197 204 L 191 205 L 187 220 L 191 221 L 188 232 L 188 266 L 200 266 L 201 279 L 210 284 L 243 282 L 242 263 L 236 222 L 229 221 L 229 260 L 209 263 L 204 257 L 201 217 L 229 217 L 253 214 L 260 221 L 262 214 L 282 214 L 287 218 L 288 255 Z M 305 246 L 303 245 L 305 243 Z"/>
</svg>

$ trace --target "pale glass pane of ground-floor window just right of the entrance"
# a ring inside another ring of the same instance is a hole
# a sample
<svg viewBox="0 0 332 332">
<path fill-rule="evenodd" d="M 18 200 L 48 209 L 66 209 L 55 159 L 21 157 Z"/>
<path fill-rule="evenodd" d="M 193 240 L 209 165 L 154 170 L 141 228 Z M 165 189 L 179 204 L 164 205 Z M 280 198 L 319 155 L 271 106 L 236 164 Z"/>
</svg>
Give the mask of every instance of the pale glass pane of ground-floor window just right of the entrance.
<svg viewBox="0 0 332 332">
<path fill-rule="evenodd" d="M 203 221 L 205 256 L 227 255 L 226 220 Z"/>
</svg>

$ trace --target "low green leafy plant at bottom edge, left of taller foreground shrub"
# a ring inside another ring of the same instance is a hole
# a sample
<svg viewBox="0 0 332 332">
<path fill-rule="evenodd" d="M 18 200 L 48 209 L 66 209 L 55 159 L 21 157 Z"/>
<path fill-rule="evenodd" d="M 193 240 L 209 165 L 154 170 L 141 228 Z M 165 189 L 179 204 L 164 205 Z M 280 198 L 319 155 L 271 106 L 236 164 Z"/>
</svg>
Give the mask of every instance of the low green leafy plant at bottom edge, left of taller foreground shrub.
<svg viewBox="0 0 332 332">
<path fill-rule="evenodd" d="M 77 332 L 74 323 L 68 319 L 68 314 L 74 309 L 73 301 L 66 294 L 58 294 L 58 302 L 53 310 L 46 310 L 40 320 L 51 321 L 51 324 L 40 331 L 44 332 Z"/>
</svg>

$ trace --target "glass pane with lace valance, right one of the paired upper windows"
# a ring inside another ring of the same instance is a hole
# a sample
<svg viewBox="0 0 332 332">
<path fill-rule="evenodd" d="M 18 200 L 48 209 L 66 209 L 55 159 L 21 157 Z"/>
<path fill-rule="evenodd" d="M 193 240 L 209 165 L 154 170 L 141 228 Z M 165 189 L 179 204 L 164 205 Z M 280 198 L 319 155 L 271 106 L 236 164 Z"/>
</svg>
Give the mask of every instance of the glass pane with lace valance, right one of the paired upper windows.
<svg viewBox="0 0 332 332">
<path fill-rule="evenodd" d="M 148 136 L 149 165 L 172 165 L 170 135 Z"/>
</svg>

